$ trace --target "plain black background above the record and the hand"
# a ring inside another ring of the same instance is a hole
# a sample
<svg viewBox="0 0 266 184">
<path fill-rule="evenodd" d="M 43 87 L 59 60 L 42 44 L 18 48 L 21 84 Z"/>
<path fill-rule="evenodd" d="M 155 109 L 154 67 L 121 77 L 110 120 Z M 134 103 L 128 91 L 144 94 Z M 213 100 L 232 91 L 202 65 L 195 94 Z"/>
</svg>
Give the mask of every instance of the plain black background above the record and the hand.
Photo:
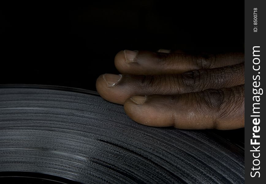
<svg viewBox="0 0 266 184">
<path fill-rule="evenodd" d="M 96 90 L 124 49 L 244 50 L 244 3 L 90 1 L 1 4 L 0 84 Z"/>
</svg>

